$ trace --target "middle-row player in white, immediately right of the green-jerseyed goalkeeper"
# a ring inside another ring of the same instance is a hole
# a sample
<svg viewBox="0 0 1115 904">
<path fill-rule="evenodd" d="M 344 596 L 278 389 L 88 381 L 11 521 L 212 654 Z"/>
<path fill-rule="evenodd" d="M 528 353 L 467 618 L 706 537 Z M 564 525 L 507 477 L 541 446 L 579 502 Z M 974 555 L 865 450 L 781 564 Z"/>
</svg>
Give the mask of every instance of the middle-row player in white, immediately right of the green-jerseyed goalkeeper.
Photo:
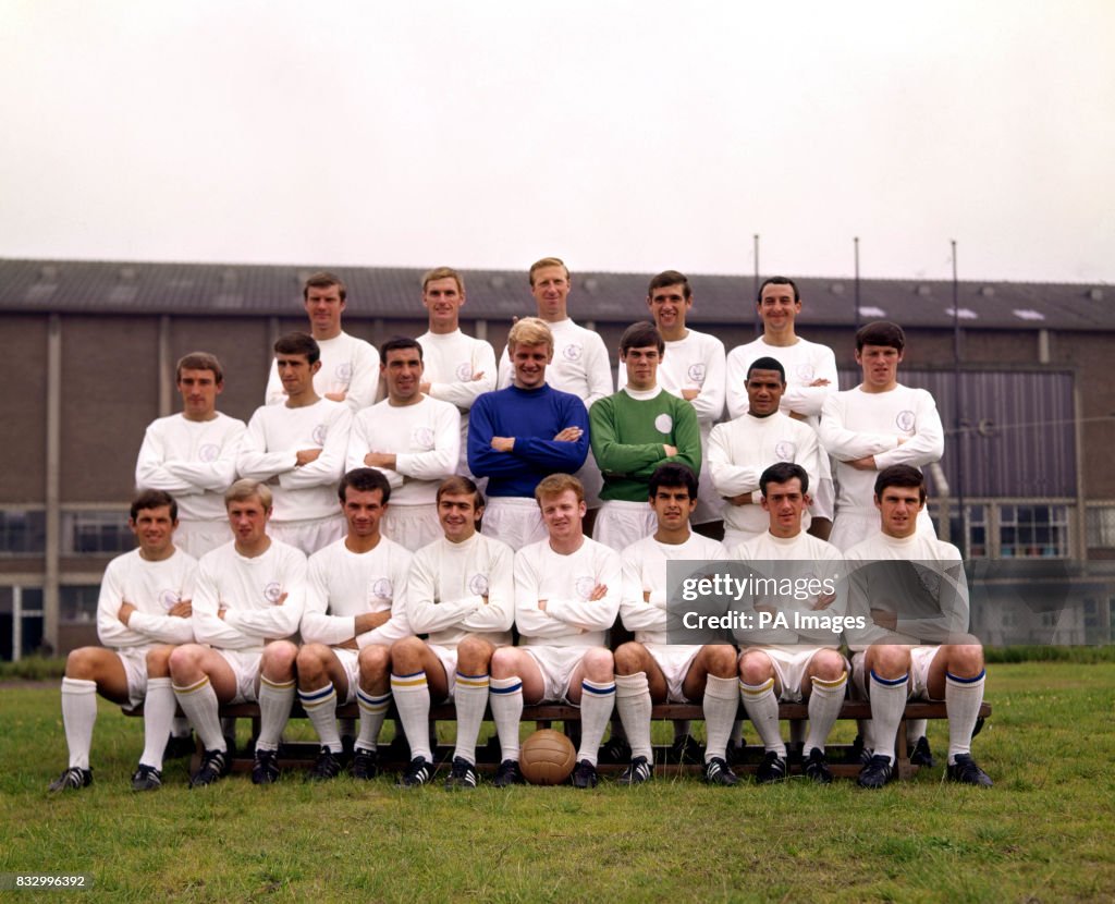
<svg viewBox="0 0 1115 904">
<path fill-rule="evenodd" d="M 708 466 L 724 505 L 724 545 L 736 545 L 766 533 L 759 478 L 776 461 L 796 461 L 809 475 L 821 472 L 817 435 L 780 410 L 786 377 L 774 358 L 758 358 L 747 369 L 747 411 L 718 424 L 708 440 Z M 808 514 L 805 514 L 808 518 Z M 808 521 L 805 522 L 808 524 Z"/>
</svg>

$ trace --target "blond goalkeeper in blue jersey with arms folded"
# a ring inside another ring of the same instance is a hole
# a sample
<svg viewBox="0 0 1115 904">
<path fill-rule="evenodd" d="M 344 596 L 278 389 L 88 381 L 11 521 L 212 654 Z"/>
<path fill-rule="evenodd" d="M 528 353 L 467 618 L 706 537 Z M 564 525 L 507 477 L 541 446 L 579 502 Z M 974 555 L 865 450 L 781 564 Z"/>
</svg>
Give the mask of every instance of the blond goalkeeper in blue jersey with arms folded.
<svg viewBox="0 0 1115 904">
<path fill-rule="evenodd" d="M 584 402 L 546 382 L 553 343 L 544 320 L 516 321 L 507 336 L 514 382 L 485 392 L 473 406 L 468 466 L 488 479 L 484 534 L 513 550 L 546 535 L 534 499 L 539 482 L 550 474 L 575 474 L 589 451 Z"/>
</svg>

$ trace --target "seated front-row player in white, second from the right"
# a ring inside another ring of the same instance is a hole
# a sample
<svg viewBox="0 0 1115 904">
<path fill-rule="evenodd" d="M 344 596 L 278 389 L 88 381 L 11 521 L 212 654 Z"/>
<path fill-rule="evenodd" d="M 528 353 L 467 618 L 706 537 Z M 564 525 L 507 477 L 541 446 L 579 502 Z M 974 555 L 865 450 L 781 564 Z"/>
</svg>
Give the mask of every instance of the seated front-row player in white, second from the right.
<svg viewBox="0 0 1115 904">
<path fill-rule="evenodd" d="M 843 562 L 835 546 L 805 533 L 803 516 L 809 505 L 809 475 L 805 468 L 779 461 L 763 472 L 759 487 L 767 531 L 737 546 L 735 557 L 762 576 L 775 579 L 779 586 L 786 579 L 794 586 L 809 581 L 811 586 L 824 587 L 828 581 L 833 592 L 809 591 L 808 595 L 793 596 L 763 593 L 750 600 L 753 618 L 757 619 L 758 613 L 773 618 L 766 628 L 737 633 L 746 644 L 739 657 L 739 696 L 765 748 L 756 780 L 764 785 L 786 777 L 778 703 L 804 700 L 809 712 L 805 775 L 827 785 L 833 777 L 825 759 L 825 741 L 844 704 L 847 662 L 836 649 L 840 626 L 825 628 L 826 622 L 814 616 L 844 615 Z M 779 615 L 784 623 L 777 621 Z M 812 628 L 811 621 L 818 626 Z"/>
</svg>

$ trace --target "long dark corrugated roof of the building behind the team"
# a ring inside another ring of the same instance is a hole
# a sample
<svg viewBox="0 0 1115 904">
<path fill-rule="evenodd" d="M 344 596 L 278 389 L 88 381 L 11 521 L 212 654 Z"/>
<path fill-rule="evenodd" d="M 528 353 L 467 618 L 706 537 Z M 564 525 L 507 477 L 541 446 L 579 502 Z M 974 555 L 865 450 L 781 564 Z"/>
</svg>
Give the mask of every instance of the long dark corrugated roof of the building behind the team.
<svg viewBox="0 0 1115 904">
<path fill-rule="evenodd" d="M 409 268 L 0 260 L 0 310 L 221 315 L 290 315 L 302 281 L 332 270 L 349 286 L 348 315 L 416 313 L 423 271 Z M 463 270 L 473 318 L 533 312 L 525 271 Z M 650 273 L 574 273 L 571 310 L 578 320 L 626 323 L 643 315 Z M 805 324 L 849 325 L 855 282 L 797 280 Z M 753 275 L 690 276 L 694 323 L 754 319 Z M 885 318 L 905 327 L 952 325 L 952 284 L 931 280 L 861 280 L 861 321 Z M 1115 329 L 1115 286 L 1088 283 L 968 281 L 959 284 L 961 324 L 969 329 Z"/>
</svg>

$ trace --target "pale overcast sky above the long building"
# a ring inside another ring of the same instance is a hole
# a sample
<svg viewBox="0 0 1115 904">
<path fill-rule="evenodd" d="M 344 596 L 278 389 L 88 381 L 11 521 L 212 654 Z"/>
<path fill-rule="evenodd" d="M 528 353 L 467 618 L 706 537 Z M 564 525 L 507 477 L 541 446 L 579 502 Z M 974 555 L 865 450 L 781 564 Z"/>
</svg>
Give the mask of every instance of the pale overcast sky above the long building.
<svg viewBox="0 0 1115 904">
<path fill-rule="evenodd" d="M 1115 2 L 0 0 L 0 256 L 1115 279 Z"/>
</svg>

